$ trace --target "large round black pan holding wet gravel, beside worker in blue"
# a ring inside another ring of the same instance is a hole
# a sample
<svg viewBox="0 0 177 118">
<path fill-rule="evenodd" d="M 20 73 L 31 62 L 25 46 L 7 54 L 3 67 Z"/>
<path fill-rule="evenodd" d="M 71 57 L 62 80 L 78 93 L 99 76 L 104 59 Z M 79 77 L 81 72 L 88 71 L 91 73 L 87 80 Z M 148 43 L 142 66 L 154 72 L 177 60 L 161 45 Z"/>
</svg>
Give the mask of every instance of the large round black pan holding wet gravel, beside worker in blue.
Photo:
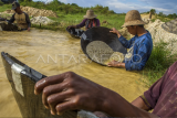
<svg viewBox="0 0 177 118">
<path fill-rule="evenodd" d="M 98 26 L 84 32 L 81 37 L 81 47 L 92 61 L 106 65 L 105 61 L 118 52 L 126 54 L 127 50 L 118 41 L 118 36 L 110 32 L 111 29 Z"/>
</svg>

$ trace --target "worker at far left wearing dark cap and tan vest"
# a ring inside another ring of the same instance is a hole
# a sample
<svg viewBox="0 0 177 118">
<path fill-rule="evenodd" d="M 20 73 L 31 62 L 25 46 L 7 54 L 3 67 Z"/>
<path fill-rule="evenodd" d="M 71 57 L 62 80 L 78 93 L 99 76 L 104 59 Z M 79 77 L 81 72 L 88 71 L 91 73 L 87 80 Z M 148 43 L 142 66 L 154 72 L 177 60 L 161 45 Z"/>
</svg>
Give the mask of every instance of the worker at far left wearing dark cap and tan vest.
<svg viewBox="0 0 177 118">
<path fill-rule="evenodd" d="M 30 31 L 31 26 L 30 18 L 25 12 L 21 11 L 20 3 L 14 1 L 12 3 L 12 10 L 14 10 L 15 13 L 12 15 L 9 23 L 13 23 L 14 21 L 17 21 L 18 26 L 20 28 L 21 31 L 23 30 Z"/>
</svg>

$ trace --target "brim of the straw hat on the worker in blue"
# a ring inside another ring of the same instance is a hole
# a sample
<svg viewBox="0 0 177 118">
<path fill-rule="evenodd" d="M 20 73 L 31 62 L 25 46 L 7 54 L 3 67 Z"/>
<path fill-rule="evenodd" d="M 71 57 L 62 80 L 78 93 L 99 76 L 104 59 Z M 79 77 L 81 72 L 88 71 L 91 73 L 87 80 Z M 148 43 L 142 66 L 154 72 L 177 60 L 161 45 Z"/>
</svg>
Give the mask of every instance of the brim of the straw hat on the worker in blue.
<svg viewBox="0 0 177 118">
<path fill-rule="evenodd" d="M 129 22 L 126 22 L 122 25 L 122 28 L 126 28 L 126 26 L 129 26 L 129 25 L 145 25 L 147 24 L 146 22 L 144 22 L 143 20 L 137 20 L 137 21 L 129 21 Z"/>
</svg>

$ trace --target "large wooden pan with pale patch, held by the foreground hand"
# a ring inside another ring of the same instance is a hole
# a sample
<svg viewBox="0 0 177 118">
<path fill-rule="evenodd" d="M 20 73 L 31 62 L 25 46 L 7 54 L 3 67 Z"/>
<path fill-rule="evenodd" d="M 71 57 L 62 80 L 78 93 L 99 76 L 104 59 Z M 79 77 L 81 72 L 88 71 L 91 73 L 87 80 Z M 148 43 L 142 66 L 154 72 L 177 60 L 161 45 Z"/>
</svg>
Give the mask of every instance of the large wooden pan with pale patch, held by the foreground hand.
<svg viewBox="0 0 177 118">
<path fill-rule="evenodd" d="M 23 118 L 76 118 L 76 111 L 52 116 L 42 104 L 42 95 L 34 95 L 34 84 L 46 76 L 7 53 L 2 52 L 1 56 L 8 81 Z"/>
</svg>

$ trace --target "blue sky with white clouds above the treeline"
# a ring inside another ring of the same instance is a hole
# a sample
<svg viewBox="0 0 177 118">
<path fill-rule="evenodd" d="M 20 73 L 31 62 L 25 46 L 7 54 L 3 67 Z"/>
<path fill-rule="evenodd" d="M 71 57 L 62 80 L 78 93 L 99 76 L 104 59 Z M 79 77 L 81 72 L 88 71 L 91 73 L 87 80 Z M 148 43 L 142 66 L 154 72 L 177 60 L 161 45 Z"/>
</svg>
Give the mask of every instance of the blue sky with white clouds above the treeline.
<svg viewBox="0 0 177 118">
<path fill-rule="evenodd" d="M 44 1 L 44 0 L 42 0 Z M 51 1 L 51 0 L 45 0 Z M 108 7 L 116 13 L 126 13 L 129 10 L 138 10 L 139 12 L 147 12 L 155 9 L 165 14 L 177 13 L 177 0 L 59 0 L 64 3 L 76 3 L 80 7 L 94 7 L 101 4 Z"/>
</svg>

